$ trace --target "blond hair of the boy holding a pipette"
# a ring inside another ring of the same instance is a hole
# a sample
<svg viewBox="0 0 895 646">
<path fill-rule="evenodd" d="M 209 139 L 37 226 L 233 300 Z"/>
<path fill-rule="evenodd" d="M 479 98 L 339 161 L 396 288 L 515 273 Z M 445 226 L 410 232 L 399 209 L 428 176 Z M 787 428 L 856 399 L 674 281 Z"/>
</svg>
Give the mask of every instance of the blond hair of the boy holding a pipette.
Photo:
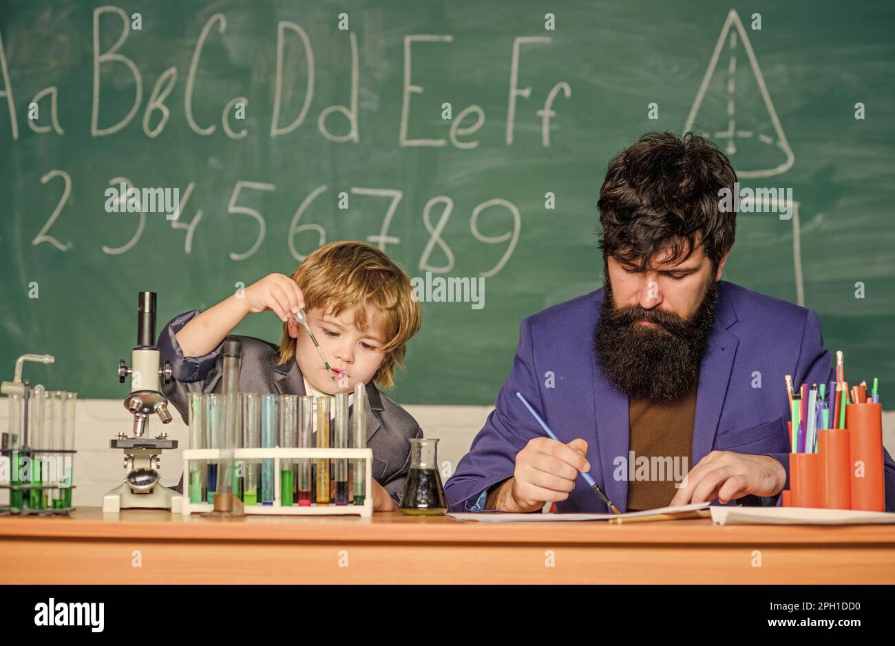
<svg viewBox="0 0 895 646">
<path fill-rule="evenodd" d="M 404 366 L 405 344 L 422 326 L 422 307 L 411 297 L 413 287 L 404 270 L 366 242 L 341 240 L 313 251 L 292 279 L 304 294 L 305 310 L 320 307 L 333 316 L 351 310 L 354 327 L 377 329 L 385 336 L 381 350 L 386 356 L 373 381 L 394 387 L 395 370 Z M 294 356 L 295 340 L 284 323 L 277 365 Z"/>
</svg>

